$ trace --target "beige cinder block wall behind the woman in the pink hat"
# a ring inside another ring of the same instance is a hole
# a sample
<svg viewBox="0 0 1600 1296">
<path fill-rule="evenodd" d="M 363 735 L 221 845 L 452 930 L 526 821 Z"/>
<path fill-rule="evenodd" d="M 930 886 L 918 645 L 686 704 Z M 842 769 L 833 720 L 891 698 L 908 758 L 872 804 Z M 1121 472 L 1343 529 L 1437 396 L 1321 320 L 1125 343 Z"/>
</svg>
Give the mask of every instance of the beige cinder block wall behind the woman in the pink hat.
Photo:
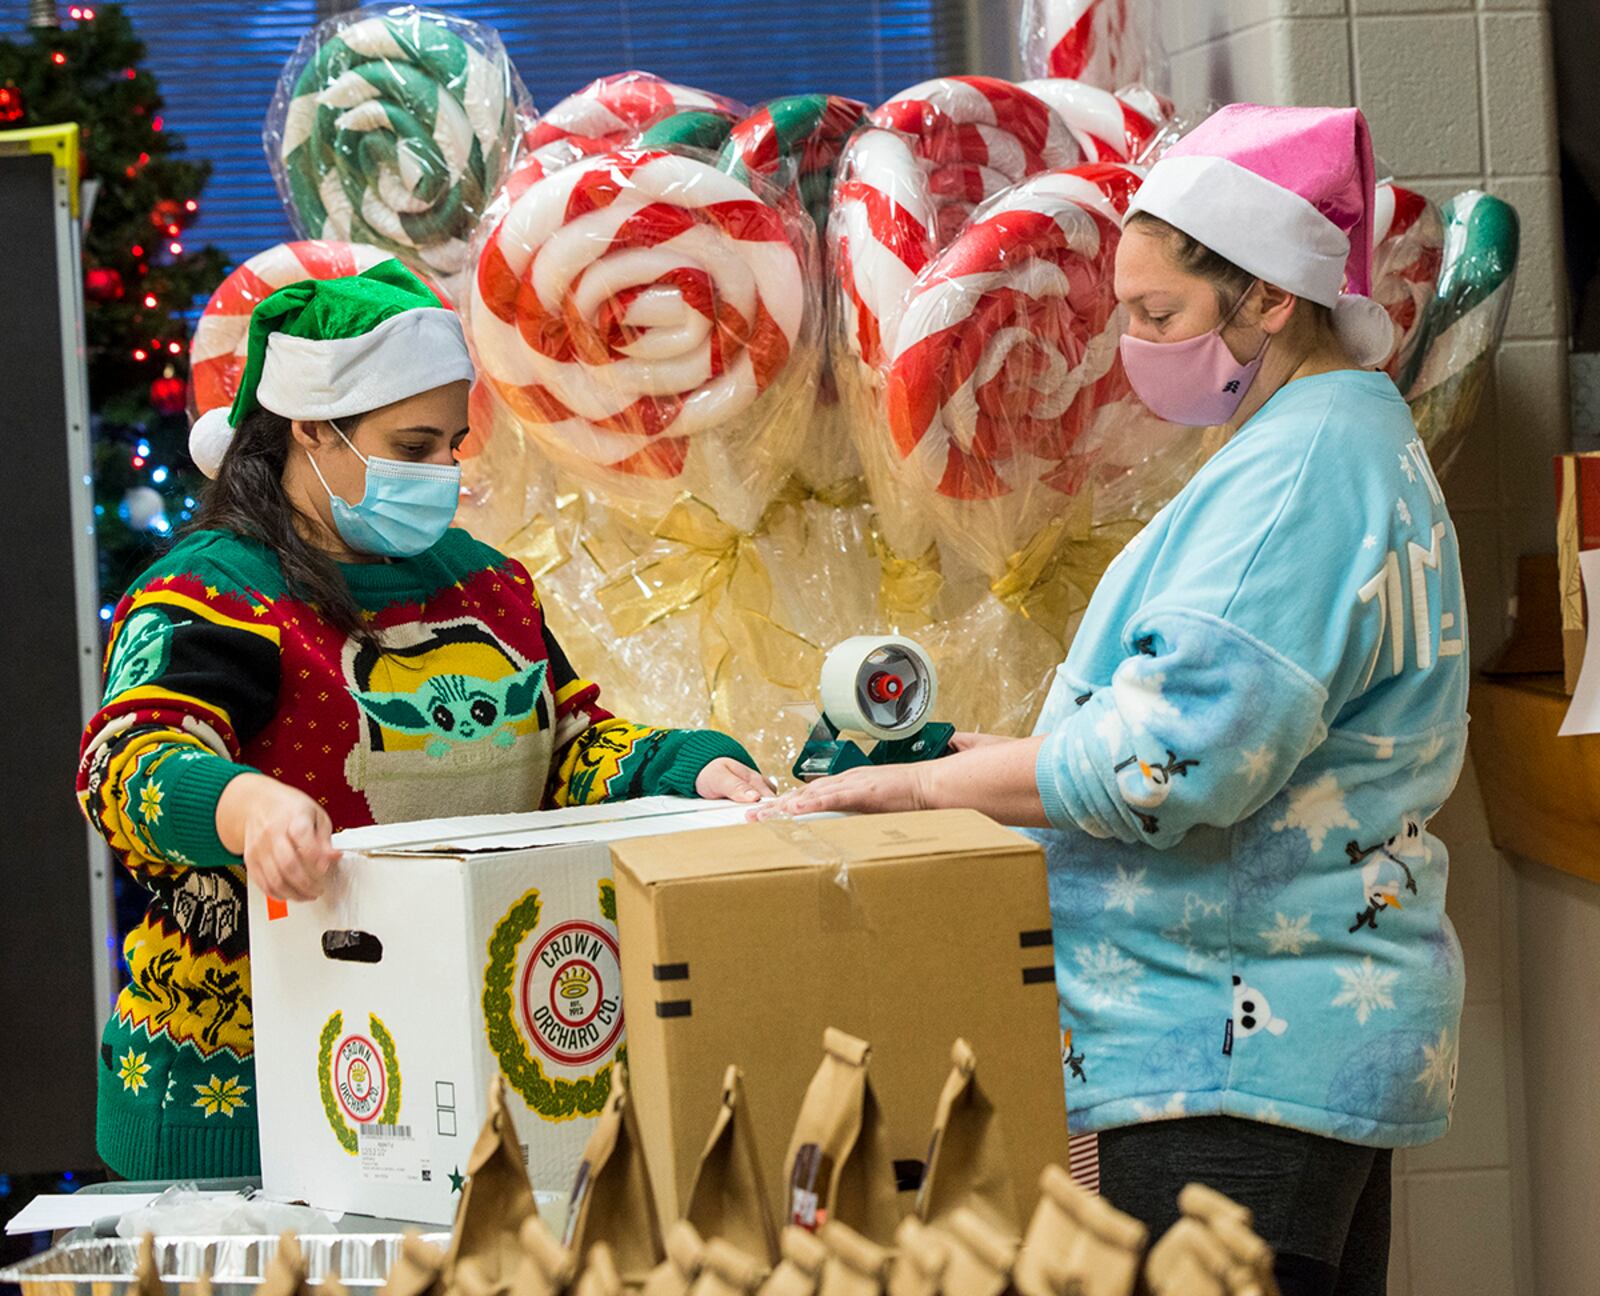
<svg viewBox="0 0 1600 1296">
<path fill-rule="evenodd" d="M 1445 477 L 1474 658 L 1504 640 L 1517 557 L 1554 547 L 1566 310 L 1542 0 L 1150 0 L 1179 106 L 1358 104 L 1395 178 L 1515 203 L 1522 266 L 1496 381 Z M 973 66 L 1016 70 L 1019 0 L 971 0 Z M 1469 766 L 1435 821 L 1467 960 L 1456 1122 L 1397 1158 L 1390 1291 L 1546 1293 L 1600 1278 L 1600 888 L 1514 862 Z M 1586 1283 L 1589 1286 L 1586 1286 Z M 1600 1288 L 1595 1288 L 1600 1290 Z"/>
</svg>

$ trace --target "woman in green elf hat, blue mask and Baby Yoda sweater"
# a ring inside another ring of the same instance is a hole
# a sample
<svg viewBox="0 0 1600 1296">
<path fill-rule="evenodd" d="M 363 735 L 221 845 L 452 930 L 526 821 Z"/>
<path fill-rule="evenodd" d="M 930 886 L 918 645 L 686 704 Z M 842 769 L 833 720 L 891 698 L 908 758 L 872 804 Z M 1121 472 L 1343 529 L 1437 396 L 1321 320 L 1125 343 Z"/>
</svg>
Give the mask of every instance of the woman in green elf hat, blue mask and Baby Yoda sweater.
<svg viewBox="0 0 1600 1296">
<path fill-rule="evenodd" d="M 117 608 L 78 768 L 154 893 L 101 1046 L 125 1178 L 258 1170 L 246 882 L 315 898 L 336 829 L 768 789 L 720 733 L 610 715 L 528 573 L 451 530 L 470 379 L 454 312 L 387 261 L 262 301 L 194 427 L 214 482 Z"/>
</svg>

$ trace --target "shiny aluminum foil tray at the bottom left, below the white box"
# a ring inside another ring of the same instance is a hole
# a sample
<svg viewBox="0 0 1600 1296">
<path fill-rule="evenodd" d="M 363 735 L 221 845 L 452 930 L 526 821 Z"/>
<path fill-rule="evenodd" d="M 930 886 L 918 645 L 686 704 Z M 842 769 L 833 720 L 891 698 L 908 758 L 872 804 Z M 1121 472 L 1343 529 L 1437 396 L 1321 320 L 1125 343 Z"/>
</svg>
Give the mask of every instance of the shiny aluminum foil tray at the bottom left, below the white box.
<svg viewBox="0 0 1600 1296">
<path fill-rule="evenodd" d="M 448 1232 L 422 1234 L 443 1248 Z M 400 1256 L 402 1234 L 320 1234 L 299 1238 L 307 1277 L 336 1277 L 350 1288 L 382 1286 Z M 155 1266 L 168 1285 L 211 1275 L 214 1296 L 253 1296 L 267 1274 L 275 1237 L 168 1237 L 155 1243 Z M 62 1242 L 40 1256 L 0 1269 L 0 1283 L 21 1283 L 24 1296 L 122 1296 L 139 1264 L 136 1238 Z"/>
</svg>

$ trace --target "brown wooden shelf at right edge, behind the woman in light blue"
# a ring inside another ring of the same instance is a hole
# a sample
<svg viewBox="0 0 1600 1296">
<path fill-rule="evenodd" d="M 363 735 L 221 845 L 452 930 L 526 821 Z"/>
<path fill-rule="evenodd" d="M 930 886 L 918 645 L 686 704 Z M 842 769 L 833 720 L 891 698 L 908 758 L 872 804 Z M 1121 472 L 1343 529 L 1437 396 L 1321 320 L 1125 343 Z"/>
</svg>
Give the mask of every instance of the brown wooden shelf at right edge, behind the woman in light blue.
<svg viewBox="0 0 1600 1296">
<path fill-rule="evenodd" d="M 1600 882 L 1600 734 L 1557 738 L 1570 701 L 1560 675 L 1480 675 L 1472 763 L 1496 846 Z"/>
</svg>

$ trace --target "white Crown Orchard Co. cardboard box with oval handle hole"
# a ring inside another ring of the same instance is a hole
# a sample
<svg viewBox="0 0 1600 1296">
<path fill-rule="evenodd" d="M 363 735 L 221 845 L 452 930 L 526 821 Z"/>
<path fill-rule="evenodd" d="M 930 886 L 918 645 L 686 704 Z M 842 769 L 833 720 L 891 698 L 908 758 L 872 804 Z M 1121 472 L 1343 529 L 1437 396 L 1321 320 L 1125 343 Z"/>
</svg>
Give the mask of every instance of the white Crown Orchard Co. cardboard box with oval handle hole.
<svg viewBox="0 0 1600 1296">
<path fill-rule="evenodd" d="M 490 1080 L 566 1192 L 622 1043 L 610 843 L 739 822 L 651 797 L 355 829 L 312 904 L 250 888 L 269 1194 L 448 1224 Z"/>
</svg>

